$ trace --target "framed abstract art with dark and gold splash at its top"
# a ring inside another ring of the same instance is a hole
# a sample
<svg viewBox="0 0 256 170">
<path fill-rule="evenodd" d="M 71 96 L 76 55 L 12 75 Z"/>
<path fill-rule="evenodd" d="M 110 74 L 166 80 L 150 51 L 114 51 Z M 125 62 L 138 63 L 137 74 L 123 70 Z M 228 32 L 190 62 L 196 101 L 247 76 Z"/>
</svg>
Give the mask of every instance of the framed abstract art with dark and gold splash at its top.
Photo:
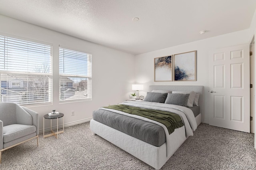
<svg viewBox="0 0 256 170">
<path fill-rule="evenodd" d="M 172 55 L 154 58 L 154 81 L 172 81 Z"/>
</svg>

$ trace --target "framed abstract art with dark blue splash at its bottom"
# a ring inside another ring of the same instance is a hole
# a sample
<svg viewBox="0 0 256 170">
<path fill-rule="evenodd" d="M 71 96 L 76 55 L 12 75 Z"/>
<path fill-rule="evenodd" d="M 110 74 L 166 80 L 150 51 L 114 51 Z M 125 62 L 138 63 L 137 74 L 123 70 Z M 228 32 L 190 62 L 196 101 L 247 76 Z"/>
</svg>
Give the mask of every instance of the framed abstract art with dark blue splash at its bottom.
<svg viewBox="0 0 256 170">
<path fill-rule="evenodd" d="M 174 81 L 196 81 L 196 51 L 174 55 Z"/>
</svg>

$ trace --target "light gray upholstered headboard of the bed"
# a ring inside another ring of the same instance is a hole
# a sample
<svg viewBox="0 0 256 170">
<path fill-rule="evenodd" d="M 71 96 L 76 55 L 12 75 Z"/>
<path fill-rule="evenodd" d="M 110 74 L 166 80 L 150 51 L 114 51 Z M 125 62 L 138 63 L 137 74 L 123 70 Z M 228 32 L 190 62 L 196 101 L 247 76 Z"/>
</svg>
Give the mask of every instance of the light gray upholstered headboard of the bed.
<svg viewBox="0 0 256 170">
<path fill-rule="evenodd" d="M 204 86 L 195 85 L 150 85 L 149 91 L 152 90 L 166 90 L 166 91 L 194 91 L 200 93 L 198 105 L 200 106 L 200 113 L 204 115 Z"/>
</svg>

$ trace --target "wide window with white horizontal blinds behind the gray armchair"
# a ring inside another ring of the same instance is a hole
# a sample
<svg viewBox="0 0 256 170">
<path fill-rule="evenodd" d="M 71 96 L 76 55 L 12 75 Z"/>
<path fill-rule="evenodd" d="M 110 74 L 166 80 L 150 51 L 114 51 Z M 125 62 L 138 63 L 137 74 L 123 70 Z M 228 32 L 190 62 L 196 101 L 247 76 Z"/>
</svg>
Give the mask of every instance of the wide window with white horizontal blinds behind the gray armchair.
<svg viewBox="0 0 256 170">
<path fill-rule="evenodd" d="M 0 36 L 1 101 L 52 102 L 52 46 Z"/>
</svg>

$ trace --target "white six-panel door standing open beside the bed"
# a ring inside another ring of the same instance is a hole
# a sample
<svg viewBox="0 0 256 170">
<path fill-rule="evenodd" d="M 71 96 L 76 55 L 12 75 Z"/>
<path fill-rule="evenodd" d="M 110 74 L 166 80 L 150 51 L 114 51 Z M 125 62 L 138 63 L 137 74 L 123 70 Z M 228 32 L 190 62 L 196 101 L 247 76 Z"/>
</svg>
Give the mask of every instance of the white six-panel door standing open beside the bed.
<svg viewBox="0 0 256 170">
<path fill-rule="evenodd" d="M 250 132 L 249 44 L 210 53 L 209 86 L 210 125 Z"/>
</svg>

